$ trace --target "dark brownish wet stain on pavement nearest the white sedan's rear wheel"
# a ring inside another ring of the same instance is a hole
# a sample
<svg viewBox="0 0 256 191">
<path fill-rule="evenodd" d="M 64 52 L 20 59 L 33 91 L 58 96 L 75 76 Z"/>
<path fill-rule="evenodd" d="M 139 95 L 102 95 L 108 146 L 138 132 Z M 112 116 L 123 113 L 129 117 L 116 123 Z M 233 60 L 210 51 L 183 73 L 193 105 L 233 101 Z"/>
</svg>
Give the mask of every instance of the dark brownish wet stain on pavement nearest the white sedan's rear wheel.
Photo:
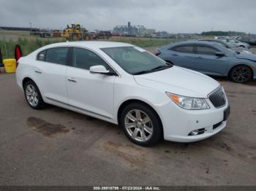
<svg viewBox="0 0 256 191">
<path fill-rule="evenodd" d="M 29 117 L 27 120 L 27 125 L 29 128 L 33 128 L 37 132 L 42 133 L 44 136 L 53 136 L 59 133 L 69 133 L 69 129 L 64 125 L 52 124 L 37 117 Z"/>
</svg>

